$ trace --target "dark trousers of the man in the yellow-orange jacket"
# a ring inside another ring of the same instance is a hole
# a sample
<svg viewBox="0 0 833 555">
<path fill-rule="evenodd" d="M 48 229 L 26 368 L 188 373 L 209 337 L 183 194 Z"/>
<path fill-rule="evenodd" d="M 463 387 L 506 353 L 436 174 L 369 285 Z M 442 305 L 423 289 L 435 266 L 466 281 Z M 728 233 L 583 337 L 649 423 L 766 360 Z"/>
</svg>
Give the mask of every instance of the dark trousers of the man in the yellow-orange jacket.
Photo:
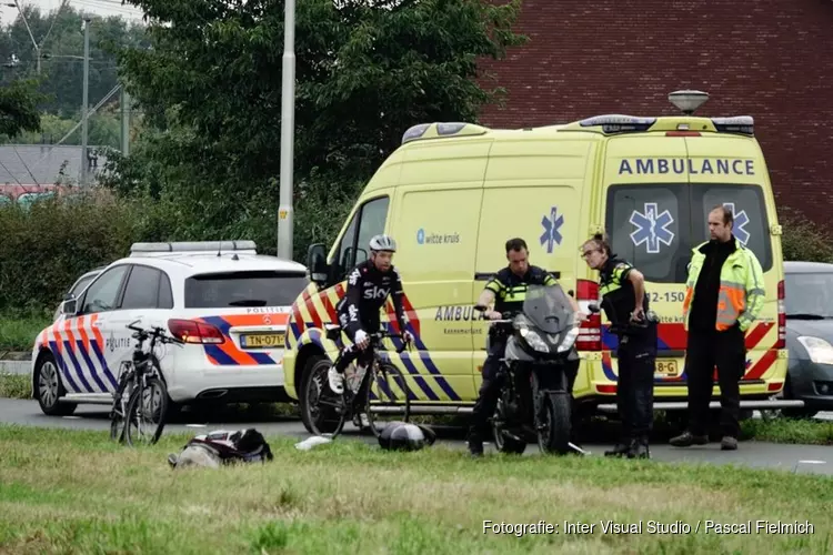
<svg viewBox="0 0 833 555">
<path fill-rule="evenodd" d="M 741 387 L 746 372 L 746 344 L 737 325 L 725 332 L 690 331 L 685 354 L 685 373 L 689 382 L 689 432 L 706 435 L 709 402 L 714 386 L 714 367 L 717 366 L 723 435 L 740 435 Z"/>
</svg>

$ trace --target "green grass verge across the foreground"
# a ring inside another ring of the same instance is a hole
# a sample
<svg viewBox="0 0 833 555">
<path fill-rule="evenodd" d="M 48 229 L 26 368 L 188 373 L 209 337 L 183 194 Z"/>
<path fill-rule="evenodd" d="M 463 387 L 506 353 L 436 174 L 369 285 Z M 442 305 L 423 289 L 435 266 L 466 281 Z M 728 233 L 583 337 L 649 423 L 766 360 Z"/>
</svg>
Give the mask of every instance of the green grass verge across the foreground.
<svg viewBox="0 0 833 555">
<path fill-rule="evenodd" d="M 833 549 L 833 481 L 732 466 L 603 457 L 390 453 L 338 441 L 275 460 L 172 471 L 191 435 L 129 448 L 106 432 L 0 426 L 0 553 L 819 553 Z M 559 534 L 485 533 L 494 523 Z M 603 534 L 601 521 L 642 534 Z M 692 527 L 650 534 L 649 521 Z M 706 533 L 705 521 L 810 523 L 813 534 Z M 564 521 L 595 524 L 565 534 Z M 699 532 L 694 528 L 701 522 Z"/>
</svg>

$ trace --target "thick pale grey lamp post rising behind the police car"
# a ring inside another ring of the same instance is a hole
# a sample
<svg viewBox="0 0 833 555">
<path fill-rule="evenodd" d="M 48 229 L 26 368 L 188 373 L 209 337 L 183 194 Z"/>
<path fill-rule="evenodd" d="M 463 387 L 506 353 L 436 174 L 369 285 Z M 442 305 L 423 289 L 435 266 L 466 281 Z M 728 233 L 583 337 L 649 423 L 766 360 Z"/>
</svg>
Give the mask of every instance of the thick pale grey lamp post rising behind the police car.
<svg viewBox="0 0 833 555">
<path fill-rule="evenodd" d="M 292 260 L 292 158 L 295 127 L 295 0 L 287 0 L 283 14 L 283 72 L 281 83 L 281 181 L 278 206 L 278 256 Z"/>
</svg>

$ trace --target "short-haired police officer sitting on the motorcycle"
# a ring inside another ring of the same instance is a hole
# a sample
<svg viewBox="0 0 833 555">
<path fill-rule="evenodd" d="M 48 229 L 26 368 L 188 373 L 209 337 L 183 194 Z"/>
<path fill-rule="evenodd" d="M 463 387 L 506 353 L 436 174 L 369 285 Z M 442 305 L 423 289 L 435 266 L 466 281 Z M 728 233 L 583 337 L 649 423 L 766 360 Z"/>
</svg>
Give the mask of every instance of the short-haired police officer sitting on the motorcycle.
<svg viewBox="0 0 833 555">
<path fill-rule="evenodd" d="M 505 248 L 509 265 L 500 270 L 486 283 L 480 299 L 478 299 L 478 306 L 489 306 L 492 301 L 495 301 L 494 310 L 488 310 L 484 313 L 490 320 L 500 320 L 504 312 L 520 311 L 526 296 L 526 285 L 558 284 L 555 278 L 546 271 L 529 263 L 529 250 L 523 239 L 510 239 L 506 241 Z M 579 305 L 575 300 L 570 297 L 570 301 L 573 310 L 579 313 Z M 583 317 L 583 314 L 579 313 L 579 317 Z M 501 383 L 496 379 L 496 374 L 506 347 L 508 337 L 490 331 L 489 340 L 489 354 L 483 364 L 483 381 L 469 428 L 469 451 L 473 456 L 483 454 L 483 437 L 488 433 L 486 424 L 498 405 Z M 575 376 L 571 376 L 571 390 L 574 380 Z"/>
</svg>

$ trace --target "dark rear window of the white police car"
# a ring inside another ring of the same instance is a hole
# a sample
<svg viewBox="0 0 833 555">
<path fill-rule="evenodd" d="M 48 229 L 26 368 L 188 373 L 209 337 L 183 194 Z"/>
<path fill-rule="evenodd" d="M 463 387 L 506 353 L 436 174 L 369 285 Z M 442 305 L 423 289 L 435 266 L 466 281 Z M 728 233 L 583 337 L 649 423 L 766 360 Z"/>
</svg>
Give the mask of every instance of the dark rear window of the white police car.
<svg viewBox="0 0 833 555">
<path fill-rule="evenodd" d="M 305 274 L 294 272 L 200 274 L 185 280 L 185 307 L 289 306 L 308 284 Z"/>
</svg>

